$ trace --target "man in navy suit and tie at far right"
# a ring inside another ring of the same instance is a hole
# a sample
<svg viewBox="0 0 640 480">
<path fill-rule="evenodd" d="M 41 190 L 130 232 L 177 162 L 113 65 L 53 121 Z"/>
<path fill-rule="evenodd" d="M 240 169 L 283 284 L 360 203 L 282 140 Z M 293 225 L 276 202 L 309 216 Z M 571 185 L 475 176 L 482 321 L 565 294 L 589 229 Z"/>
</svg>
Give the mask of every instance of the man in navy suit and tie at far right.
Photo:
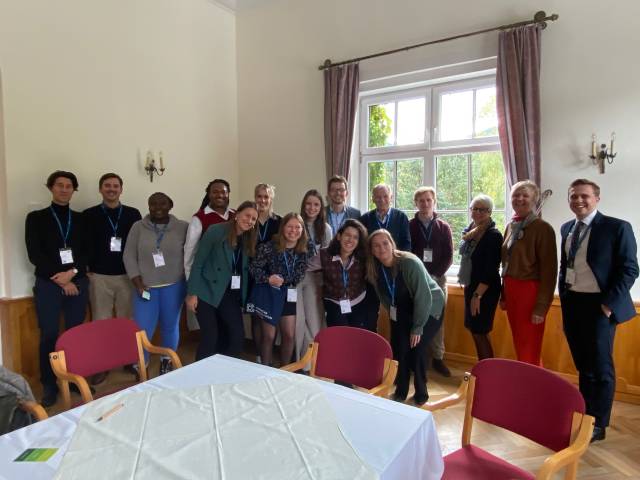
<svg viewBox="0 0 640 480">
<path fill-rule="evenodd" d="M 569 186 L 576 218 L 561 227 L 558 288 L 564 332 L 579 372 L 587 413 L 596 419 L 591 441 L 605 438 L 615 393 L 616 326 L 636 315 L 629 290 L 638 277 L 631 225 L 597 210 L 600 187 L 578 179 Z"/>
</svg>

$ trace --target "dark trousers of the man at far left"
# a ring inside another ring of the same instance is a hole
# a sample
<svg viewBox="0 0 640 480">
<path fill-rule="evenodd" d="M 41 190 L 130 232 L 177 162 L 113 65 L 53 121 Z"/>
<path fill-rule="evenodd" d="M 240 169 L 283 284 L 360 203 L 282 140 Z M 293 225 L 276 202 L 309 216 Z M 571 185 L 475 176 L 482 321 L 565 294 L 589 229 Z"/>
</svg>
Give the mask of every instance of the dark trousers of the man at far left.
<svg viewBox="0 0 640 480">
<path fill-rule="evenodd" d="M 89 299 L 89 281 L 79 278 L 74 281 L 79 295 L 66 296 L 62 288 L 48 278 L 36 277 L 33 299 L 40 328 L 40 382 L 45 390 L 57 390 L 56 376 L 51 370 L 49 354 L 55 351 L 60 329 L 60 313 L 64 314 L 65 329 L 80 325 L 84 321 Z"/>
</svg>

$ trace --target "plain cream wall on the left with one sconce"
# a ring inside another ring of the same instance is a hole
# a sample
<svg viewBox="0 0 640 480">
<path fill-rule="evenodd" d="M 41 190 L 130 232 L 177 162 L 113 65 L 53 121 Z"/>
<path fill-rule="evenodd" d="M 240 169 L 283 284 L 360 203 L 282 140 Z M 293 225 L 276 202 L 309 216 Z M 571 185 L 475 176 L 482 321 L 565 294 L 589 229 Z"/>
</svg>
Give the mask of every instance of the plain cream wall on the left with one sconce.
<svg viewBox="0 0 640 480">
<path fill-rule="evenodd" d="M 147 197 L 164 191 L 183 219 L 209 180 L 238 185 L 232 12 L 207 0 L 2 3 L 4 295 L 31 294 L 24 219 L 48 205 L 53 170 L 78 176 L 76 209 L 98 203 L 99 176 L 115 171 L 123 202 L 145 212 Z M 142 169 L 147 149 L 165 155 L 166 174 L 153 184 Z"/>
</svg>

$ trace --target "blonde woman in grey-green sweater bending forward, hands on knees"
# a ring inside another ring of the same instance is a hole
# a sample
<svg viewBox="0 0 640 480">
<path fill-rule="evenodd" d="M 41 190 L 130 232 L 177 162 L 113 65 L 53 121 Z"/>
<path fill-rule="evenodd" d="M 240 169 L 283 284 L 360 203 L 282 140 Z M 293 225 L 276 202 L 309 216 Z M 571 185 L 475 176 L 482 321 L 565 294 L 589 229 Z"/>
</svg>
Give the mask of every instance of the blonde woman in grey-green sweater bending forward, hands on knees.
<svg viewBox="0 0 640 480">
<path fill-rule="evenodd" d="M 444 294 L 414 254 L 396 248 L 384 229 L 369 235 L 367 276 L 391 319 L 391 347 L 398 361 L 393 399 L 404 401 L 414 373 L 416 405 L 429 399 L 425 350 L 440 328 Z"/>
</svg>

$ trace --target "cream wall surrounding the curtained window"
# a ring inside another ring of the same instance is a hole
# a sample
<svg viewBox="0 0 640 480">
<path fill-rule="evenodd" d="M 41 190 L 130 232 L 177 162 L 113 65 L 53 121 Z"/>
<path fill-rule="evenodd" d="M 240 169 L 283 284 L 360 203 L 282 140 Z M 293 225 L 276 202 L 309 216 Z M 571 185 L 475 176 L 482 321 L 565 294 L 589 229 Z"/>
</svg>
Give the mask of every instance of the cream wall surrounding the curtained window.
<svg viewBox="0 0 640 480">
<path fill-rule="evenodd" d="M 324 190 L 325 58 L 339 61 L 412 43 L 529 19 L 543 9 L 560 19 L 543 33 L 542 183 L 556 193 L 545 218 L 567 219 L 565 191 L 576 177 L 602 186 L 601 210 L 634 226 L 640 209 L 640 2 L 602 7 L 584 0 L 280 0 L 237 15 L 241 185 L 278 187 L 277 208 L 298 208 L 307 188 Z M 399 53 L 361 64 L 362 79 L 485 58 L 497 34 Z M 618 158 L 602 176 L 587 158 L 591 133 L 618 135 Z M 637 230 L 637 229 L 636 229 Z M 640 233 L 640 232 L 637 232 Z M 640 282 L 633 290 L 640 297 Z"/>
</svg>

